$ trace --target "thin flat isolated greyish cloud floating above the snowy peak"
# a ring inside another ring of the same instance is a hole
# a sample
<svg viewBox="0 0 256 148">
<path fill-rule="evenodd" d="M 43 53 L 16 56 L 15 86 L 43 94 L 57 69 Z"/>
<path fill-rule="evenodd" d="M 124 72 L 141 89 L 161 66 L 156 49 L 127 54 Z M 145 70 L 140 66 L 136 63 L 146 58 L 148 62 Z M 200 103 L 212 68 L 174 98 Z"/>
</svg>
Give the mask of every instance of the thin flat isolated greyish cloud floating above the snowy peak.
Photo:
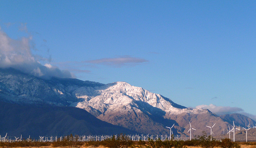
<svg viewBox="0 0 256 148">
<path fill-rule="evenodd" d="M 102 64 L 102 65 L 112 65 L 112 66 L 124 66 L 124 65 L 136 65 L 140 63 L 146 63 L 148 60 L 137 58 L 137 57 L 130 57 L 130 56 L 122 56 L 116 58 L 102 58 L 96 60 L 85 61 L 85 63 L 92 63 L 92 64 Z"/>
</svg>

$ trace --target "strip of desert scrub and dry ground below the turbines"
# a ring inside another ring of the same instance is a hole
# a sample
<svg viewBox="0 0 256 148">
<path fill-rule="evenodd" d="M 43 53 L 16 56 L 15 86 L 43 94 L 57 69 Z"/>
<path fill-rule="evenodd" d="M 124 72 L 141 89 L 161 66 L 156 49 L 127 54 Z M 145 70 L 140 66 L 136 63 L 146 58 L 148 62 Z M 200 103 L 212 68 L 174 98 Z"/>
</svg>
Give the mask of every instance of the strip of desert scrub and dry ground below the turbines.
<svg viewBox="0 0 256 148">
<path fill-rule="evenodd" d="M 147 141 L 132 141 L 125 135 L 113 136 L 102 141 L 81 142 L 72 139 L 72 135 L 63 140 L 54 142 L 33 142 L 33 141 L 17 141 L 17 142 L 0 142 L 2 148 L 16 147 L 106 147 L 106 148 L 241 148 L 241 145 L 251 146 L 256 148 L 256 142 L 232 142 L 229 138 L 215 140 L 210 136 L 197 136 L 192 140 L 152 140 Z M 243 147 L 244 148 L 244 147 Z M 249 148 L 249 147 L 248 147 Z"/>
</svg>

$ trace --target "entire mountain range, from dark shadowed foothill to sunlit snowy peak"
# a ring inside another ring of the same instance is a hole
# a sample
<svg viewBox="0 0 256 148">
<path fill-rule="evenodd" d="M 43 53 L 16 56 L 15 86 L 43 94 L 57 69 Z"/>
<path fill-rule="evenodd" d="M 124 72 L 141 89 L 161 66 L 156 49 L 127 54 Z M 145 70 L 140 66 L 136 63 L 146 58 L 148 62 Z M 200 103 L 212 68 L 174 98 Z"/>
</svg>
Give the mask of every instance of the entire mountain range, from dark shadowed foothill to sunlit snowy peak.
<svg viewBox="0 0 256 148">
<path fill-rule="evenodd" d="M 126 82 L 41 79 L 13 68 L 0 69 L 0 101 L 0 134 L 165 135 L 170 134 L 166 126 L 174 124 L 173 134 L 185 136 L 190 122 L 194 135 L 210 133 L 206 126 L 215 123 L 214 134 L 220 135 L 233 120 L 236 126 L 256 124 L 241 114 L 217 116 L 207 109 L 188 109 Z"/>
</svg>

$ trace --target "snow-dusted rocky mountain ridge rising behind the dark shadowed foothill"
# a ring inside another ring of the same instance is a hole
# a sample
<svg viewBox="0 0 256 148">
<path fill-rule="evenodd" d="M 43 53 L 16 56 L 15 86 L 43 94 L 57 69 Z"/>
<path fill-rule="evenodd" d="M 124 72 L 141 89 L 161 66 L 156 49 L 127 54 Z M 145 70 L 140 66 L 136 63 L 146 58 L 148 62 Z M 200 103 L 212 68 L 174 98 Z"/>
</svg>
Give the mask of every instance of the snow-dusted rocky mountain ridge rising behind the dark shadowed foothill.
<svg viewBox="0 0 256 148">
<path fill-rule="evenodd" d="M 196 128 L 194 135 L 210 132 L 206 125 L 214 123 L 215 134 L 221 134 L 229 124 L 207 109 L 187 109 L 126 82 L 104 85 L 78 79 L 44 80 L 15 69 L 0 69 L 0 101 L 77 107 L 100 120 L 145 134 L 169 134 L 165 126 L 173 124 L 174 135 L 188 134 L 189 122 Z"/>
</svg>

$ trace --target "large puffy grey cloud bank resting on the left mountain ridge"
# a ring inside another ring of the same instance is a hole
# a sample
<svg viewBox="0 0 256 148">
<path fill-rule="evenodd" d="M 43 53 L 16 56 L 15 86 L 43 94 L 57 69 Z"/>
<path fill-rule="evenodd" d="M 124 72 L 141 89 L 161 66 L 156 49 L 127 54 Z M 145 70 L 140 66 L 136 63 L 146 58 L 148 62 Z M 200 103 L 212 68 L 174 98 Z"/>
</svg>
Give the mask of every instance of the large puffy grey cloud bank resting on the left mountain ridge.
<svg viewBox="0 0 256 148">
<path fill-rule="evenodd" d="M 74 77 L 69 71 L 60 70 L 50 64 L 42 65 L 38 61 L 38 55 L 31 52 L 31 42 L 32 37 L 11 39 L 0 28 L 0 68 L 12 67 L 44 79 Z"/>
</svg>

